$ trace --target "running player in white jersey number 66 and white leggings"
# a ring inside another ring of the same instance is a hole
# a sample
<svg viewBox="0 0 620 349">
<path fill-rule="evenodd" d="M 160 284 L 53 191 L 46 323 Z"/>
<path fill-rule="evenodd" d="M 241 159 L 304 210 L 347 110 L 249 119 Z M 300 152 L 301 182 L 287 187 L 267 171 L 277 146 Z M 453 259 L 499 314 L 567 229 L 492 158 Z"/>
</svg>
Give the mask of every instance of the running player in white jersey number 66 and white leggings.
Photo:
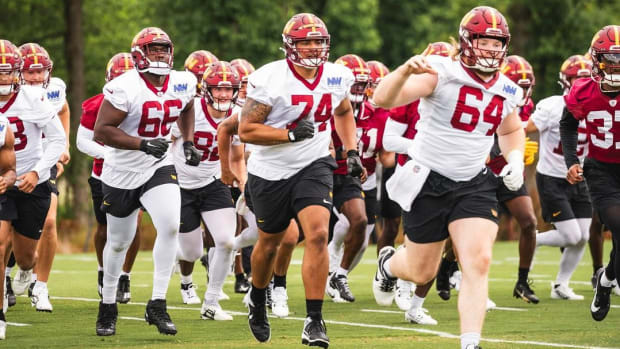
<svg viewBox="0 0 620 349">
<path fill-rule="evenodd" d="M 116 332 L 116 287 L 141 206 L 157 230 L 153 292 L 145 319 L 162 334 L 177 333 L 166 310 L 181 213 L 177 175 L 167 156 L 174 122 L 185 140 L 188 164 L 197 166 L 200 154 L 193 145 L 196 77 L 172 70 L 173 53 L 172 41 L 164 31 L 142 29 L 131 44 L 136 69 L 103 88 L 104 100 L 95 123 L 95 140 L 109 147 L 101 174 L 108 239 L 103 250 L 103 299 L 96 324 L 99 336 Z"/>
</svg>

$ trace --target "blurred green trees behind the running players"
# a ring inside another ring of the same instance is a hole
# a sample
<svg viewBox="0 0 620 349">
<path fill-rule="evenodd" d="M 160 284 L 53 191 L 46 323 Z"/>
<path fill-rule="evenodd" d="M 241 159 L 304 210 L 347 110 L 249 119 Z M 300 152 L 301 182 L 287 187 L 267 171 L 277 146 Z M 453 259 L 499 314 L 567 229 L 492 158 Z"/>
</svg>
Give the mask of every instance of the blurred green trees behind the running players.
<svg viewBox="0 0 620 349">
<path fill-rule="evenodd" d="M 174 66 L 187 55 L 209 50 L 222 60 L 243 57 L 257 68 L 283 57 L 282 28 L 295 13 L 312 12 L 331 34 L 331 60 L 355 53 L 390 69 L 420 53 L 429 42 L 458 35 L 461 18 L 478 5 L 496 7 L 512 34 L 509 53 L 534 67 L 538 101 L 561 93 L 557 77 L 563 60 L 584 54 L 594 33 L 619 24 L 620 1 L 613 0 L 0 0 L 0 35 L 16 45 L 37 42 L 54 61 L 53 75 L 68 86 L 72 160 L 60 179 L 59 232 L 84 240 L 91 230 L 87 179 L 90 159 L 75 148 L 81 103 L 101 92 L 105 66 L 117 52 L 129 52 L 145 26 L 166 31 L 174 43 Z M 533 167 L 529 170 L 530 188 Z M 535 188 L 533 189 L 535 190 Z"/>
</svg>

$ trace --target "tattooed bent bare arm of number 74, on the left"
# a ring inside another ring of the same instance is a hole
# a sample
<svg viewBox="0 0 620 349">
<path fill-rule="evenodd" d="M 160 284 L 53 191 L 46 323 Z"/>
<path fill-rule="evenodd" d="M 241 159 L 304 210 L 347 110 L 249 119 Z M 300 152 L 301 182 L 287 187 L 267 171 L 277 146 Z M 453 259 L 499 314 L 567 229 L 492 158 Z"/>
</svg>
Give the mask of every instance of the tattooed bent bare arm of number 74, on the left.
<svg viewBox="0 0 620 349">
<path fill-rule="evenodd" d="M 289 130 L 265 125 L 270 112 L 271 106 L 250 97 L 246 99 L 239 122 L 239 138 L 243 143 L 275 145 L 292 141 Z"/>
</svg>

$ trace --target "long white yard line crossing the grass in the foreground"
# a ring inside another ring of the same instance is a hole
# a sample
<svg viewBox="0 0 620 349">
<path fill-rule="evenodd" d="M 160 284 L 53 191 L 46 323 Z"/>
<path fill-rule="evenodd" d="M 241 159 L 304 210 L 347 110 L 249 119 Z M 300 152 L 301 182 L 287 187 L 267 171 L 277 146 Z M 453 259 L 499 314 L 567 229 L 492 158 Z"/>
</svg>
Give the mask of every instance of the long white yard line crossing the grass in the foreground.
<svg viewBox="0 0 620 349">
<path fill-rule="evenodd" d="M 99 302 L 99 299 L 94 299 L 94 298 L 81 298 L 81 297 L 50 297 L 50 298 L 61 299 L 61 300 L 81 301 L 81 302 Z M 129 302 L 128 304 L 129 305 L 142 305 L 142 306 L 146 305 L 146 303 L 143 303 L 143 302 Z M 192 308 L 192 307 L 169 306 L 168 309 L 200 311 L 200 308 Z M 227 312 L 232 315 L 247 315 L 247 313 L 238 312 L 238 311 L 227 311 Z M 397 313 L 400 313 L 400 312 L 397 312 Z M 130 316 L 121 316 L 120 318 L 124 320 L 144 321 L 144 319 L 142 318 L 130 317 Z M 283 318 L 283 320 L 305 321 L 306 319 L 301 318 L 301 317 L 285 317 Z M 459 339 L 459 335 L 456 335 L 456 334 L 442 332 L 442 331 L 434 331 L 434 330 L 429 330 L 425 328 L 387 326 L 387 325 L 365 324 L 365 323 L 359 323 L 359 322 L 345 322 L 345 321 L 335 321 L 335 320 L 325 320 L 325 323 L 334 324 L 334 325 L 343 325 L 343 326 L 353 326 L 353 327 L 379 328 L 379 329 L 395 330 L 395 331 L 417 332 L 417 333 L 439 336 L 442 338 L 450 338 L 450 339 L 455 339 L 455 340 Z M 592 346 L 584 346 L 584 345 L 573 345 L 573 344 L 551 343 L 551 342 L 517 341 L 517 340 L 497 339 L 497 338 L 481 338 L 481 340 L 485 342 L 493 342 L 493 343 L 536 345 L 536 346 L 541 346 L 541 347 L 555 347 L 555 348 L 620 349 L 620 348 L 592 347 Z"/>
</svg>

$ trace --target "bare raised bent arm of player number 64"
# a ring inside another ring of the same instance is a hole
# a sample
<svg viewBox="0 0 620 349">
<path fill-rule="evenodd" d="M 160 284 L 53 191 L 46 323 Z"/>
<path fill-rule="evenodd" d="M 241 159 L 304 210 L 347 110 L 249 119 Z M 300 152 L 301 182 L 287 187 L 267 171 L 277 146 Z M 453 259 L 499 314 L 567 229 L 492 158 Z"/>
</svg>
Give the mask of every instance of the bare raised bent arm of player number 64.
<svg viewBox="0 0 620 349">
<path fill-rule="evenodd" d="M 433 93 L 437 81 L 437 72 L 426 58 L 413 56 L 381 80 L 372 98 L 381 108 L 398 107 Z"/>
</svg>

